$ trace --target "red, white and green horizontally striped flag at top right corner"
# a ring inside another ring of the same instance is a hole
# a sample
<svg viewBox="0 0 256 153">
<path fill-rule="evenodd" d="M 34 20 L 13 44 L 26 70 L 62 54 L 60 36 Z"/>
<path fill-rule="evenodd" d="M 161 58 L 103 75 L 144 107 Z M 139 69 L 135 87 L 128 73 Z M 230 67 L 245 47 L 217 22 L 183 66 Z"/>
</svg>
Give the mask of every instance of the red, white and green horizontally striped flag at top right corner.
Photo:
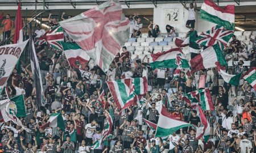
<svg viewBox="0 0 256 153">
<path fill-rule="evenodd" d="M 201 6 L 200 18 L 234 31 L 234 12 L 234 5 L 221 8 L 214 2 L 205 0 Z"/>
</svg>

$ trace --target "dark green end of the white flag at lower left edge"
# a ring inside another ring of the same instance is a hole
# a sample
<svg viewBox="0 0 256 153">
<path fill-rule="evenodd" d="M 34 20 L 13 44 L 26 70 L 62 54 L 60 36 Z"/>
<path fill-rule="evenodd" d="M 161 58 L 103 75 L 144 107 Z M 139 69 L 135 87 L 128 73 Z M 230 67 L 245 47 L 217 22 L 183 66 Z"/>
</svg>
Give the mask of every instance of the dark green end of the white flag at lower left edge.
<svg viewBox="0 0 256 153">
<path fill-rule="evenodd" d="M 10 100 L 13 101 L 17 107 L 16 117 L 26 117 L 26 109 L 23 95 L 11 97 Z"/>
</svg>

